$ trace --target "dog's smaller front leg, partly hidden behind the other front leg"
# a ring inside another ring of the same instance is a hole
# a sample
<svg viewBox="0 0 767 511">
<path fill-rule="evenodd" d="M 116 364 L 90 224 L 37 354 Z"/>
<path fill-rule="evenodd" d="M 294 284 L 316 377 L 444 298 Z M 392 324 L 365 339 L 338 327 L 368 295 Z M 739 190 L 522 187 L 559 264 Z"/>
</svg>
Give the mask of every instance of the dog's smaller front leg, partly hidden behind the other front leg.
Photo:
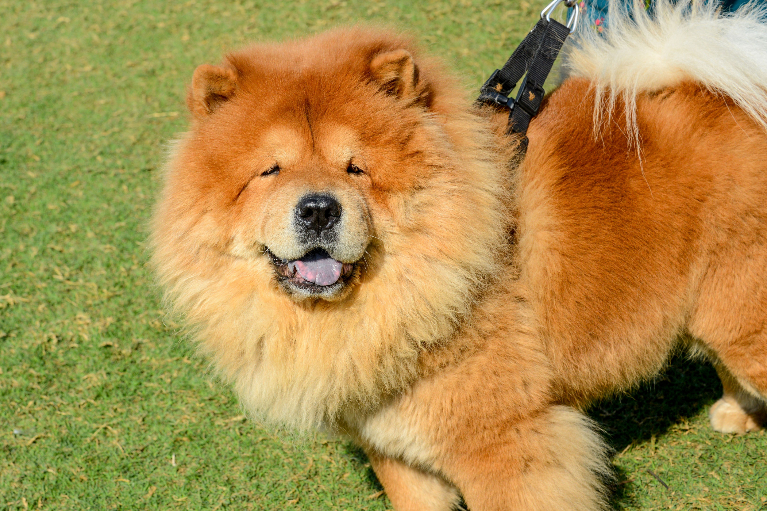
<svg viewBox="0 0 767 511">
<path fill-rule="evenodd" d="M 458 490 L 433 474 L 368 450 L 367 457 L 395 511 L 453 511 Z"/>
</svg>

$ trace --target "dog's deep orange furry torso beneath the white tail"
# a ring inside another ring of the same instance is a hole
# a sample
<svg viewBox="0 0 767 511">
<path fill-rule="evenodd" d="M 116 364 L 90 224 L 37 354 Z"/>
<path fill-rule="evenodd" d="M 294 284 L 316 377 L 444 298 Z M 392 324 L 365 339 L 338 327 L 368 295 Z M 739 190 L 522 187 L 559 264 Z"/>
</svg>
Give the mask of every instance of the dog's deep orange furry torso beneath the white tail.
<svg viewBox="0 0 767 511">
<path fill-rule="evenodd" d="M 681 83 L 584 136 L 594 92 L 571 79 L 529 132 L 518 264 L 569 403 L 656 373 L 680 334 L 753 395 L 767 390 L 767 136 L 731 101 Z"/>
</svg>

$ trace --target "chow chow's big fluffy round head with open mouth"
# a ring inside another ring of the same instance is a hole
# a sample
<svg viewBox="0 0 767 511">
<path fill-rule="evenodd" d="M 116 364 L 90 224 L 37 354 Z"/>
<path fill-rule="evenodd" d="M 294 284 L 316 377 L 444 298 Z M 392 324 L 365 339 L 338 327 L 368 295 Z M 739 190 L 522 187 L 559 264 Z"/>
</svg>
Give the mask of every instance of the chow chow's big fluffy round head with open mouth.
<svg viewBox="0 0 767 511">
<path fill-rule="evenodd" d="M 198 67 L 187 104 L 153 260 L 228 370 L 258 345 L 258 363 L 374 378 L 448 335 L 499 272 L 509 218 L 486 123 L 403 38 L 249 47 Z"/>
</svg>

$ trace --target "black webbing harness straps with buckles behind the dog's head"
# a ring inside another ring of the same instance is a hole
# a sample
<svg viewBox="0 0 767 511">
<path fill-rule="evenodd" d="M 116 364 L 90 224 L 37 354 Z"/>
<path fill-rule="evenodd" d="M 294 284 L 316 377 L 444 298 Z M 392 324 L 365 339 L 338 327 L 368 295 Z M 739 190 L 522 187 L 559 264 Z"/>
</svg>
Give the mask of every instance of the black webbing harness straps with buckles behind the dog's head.
<svg viewBox="0 0 767 511">
<path fill-rule="evenodd" d="M 570 29 L 555 20 L 541 21 L 522 40 L 509 61 L 500 70 L 495 70 L 482 86 L 477 101 L 508 108 L 509 133 L 527 132 L 530 120 L 541 107 L 545 90 L 543 84 L 551 72 L 562 44 L 565 44 Z M 527 71 L 515 100 L 507 97 Z"/>
</svg>

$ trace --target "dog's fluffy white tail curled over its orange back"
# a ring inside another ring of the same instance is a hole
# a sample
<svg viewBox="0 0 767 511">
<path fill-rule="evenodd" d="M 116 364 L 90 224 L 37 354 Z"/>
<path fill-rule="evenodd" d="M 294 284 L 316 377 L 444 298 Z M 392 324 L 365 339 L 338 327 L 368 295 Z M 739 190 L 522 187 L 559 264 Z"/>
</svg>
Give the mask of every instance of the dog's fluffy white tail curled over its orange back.
<svg viewBox="0 0 767 511">
<path fill-rule="evenodd" d="M 610 0 L 604 32 L 582 23 L 565 66 L 592 81 L 594 135 L 623 103 L 638 148 L 637 95 L 683 80 L 731 97 L 767 129 L 767 9 L 756 3 L 723 13 L 712 0 L 658 0 L 648 13 Z"/>
</svg>

